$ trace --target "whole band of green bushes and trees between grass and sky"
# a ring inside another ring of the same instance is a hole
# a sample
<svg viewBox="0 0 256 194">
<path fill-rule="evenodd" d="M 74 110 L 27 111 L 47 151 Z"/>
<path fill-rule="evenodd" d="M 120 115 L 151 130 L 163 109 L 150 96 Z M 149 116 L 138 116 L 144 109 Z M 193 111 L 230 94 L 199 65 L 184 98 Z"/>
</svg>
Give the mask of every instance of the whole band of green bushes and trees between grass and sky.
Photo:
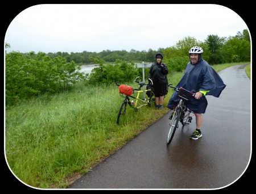
<svg viewBox="0 0 256 194">
<path fill-rule="evenodd" d="M 176 45 L 148 51 L 103 50 L 100 53 L 6 53 L 6 105 L 12 105 L 32 96 L 56 94 L 72 89 L 77 82 L 84 85 L 110 85 L 124 83 L 142 76 L 137 62 L 154 62 L 155 54 L 164 55 L 163 62 L 171 71 L 183 71 L 188 63 L 188 50 L 194 46 L 204 49 L 203 58 L 210 65 L 250 61 L 250 35 L 247 29 L 236 36 L 218 37 L 208 35 L 198 41 L 185 37 Z M 6 43 L 6 48 L 10 45 Z M 90 74 L 80 72 L 82 64 L 98 64 Z M 148 69 L 145 70 L 147 76 Z"/>
</svg>

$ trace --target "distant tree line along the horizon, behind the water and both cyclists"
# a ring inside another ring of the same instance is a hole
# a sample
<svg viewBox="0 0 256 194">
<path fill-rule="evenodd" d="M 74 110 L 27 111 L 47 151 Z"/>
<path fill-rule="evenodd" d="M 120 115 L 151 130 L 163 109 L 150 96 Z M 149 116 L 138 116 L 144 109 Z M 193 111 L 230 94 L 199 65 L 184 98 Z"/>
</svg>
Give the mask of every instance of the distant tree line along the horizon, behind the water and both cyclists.
<svg viewBox="0 0 256 194">
<path fill-rule="evenodd" d="M 115 60 L 123 61 L 155 61 L 155 53 L 162 52 L 165 57 L 188 56 L 189 48 L 200 44 L 204 49 L 204 57 L 207 58 L 210 65 L 223 64 L 227 62 L 247 61 L 250 57 L 250 35 L 247 29 L 243 32 L 237 32 L 236 36 L 219 37 L 217 35 L 208 35 L 204 42 L 197 41 L 193 37 L 185 37 L 183 40 L 170 48 L 159 48 L 158 50 L 103 50 L 102 52 L 87 52 L 70 54 L 67 52 L 47 53 L 47 56 L 54 58 L 61 56 L 68 62 L 75 61 L 77 64 L 90 64 L 93 59 L 98 57 L 107 62 Z"/>
</svg>

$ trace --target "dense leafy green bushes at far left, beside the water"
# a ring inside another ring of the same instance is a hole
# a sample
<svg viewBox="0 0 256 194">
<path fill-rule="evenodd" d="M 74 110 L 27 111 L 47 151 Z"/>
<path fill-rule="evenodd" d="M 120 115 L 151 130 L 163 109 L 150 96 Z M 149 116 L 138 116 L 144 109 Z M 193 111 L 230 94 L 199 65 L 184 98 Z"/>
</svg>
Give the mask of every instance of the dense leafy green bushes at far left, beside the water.
<svg viewBox="0 0 256 194">
<path fill-rule="evenodd" d="M 67 89 L 84 78 L 80 66 L 61 56 L 51 59 L 42 52 L 6 54 L 6 104 Z"/>
</svg>

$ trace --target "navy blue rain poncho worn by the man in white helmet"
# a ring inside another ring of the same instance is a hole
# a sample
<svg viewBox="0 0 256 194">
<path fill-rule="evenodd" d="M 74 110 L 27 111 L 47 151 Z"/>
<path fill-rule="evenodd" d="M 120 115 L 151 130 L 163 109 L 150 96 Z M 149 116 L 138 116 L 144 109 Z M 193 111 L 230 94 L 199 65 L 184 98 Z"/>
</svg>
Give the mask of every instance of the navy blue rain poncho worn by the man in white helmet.
<svg viewBox="0 0 256 194">
<path fill-rule="evenodd" d="M 218 75 L 218 73 L 200 57 L 197 64 L 188 62 L 183 77 L 176 87 L 183 87 L 191 92 L 209 90 L 206 95 L 212 95 L 218 98 L 226 85 L 222 81 L 220 75 Z M 174 94 L 172 94 L 167 107 L 172 109 L 177 106 L 179 101 L 180 98 L 175 91 Z M 207 105 L 208 102 L 206 96 L 203 96 L 203 98 L 200 99 L 192 97 L 185 102 L 185 106 L 195 113 L 205 113 Z"/>
</svg>

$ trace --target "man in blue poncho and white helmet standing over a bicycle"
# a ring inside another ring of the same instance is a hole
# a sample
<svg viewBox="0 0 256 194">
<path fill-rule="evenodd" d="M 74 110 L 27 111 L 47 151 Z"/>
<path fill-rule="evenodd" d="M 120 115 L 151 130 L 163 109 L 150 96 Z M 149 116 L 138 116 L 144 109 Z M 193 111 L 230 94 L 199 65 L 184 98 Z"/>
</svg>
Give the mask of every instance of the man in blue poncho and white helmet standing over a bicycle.
<svg viewBox="0 0 256 194">
<path fill-rule="evenodd" d="M 188 91 L 195 92 L 195 98 L 185 102 L 185 106 L 195 113 L 196 130 L 190 138 L 197 140 L 202 137 L 203 113 L 205 113 L 208 104 L 205 95 L 212 95 L 218 98 L 226 85 L 220 75 L 201 57 L 203 53 L 201 47 L 192 47 L 188 53 L 190 62 L 188 62 L 183 77 L 176 87 L 183 87 Z M 179 100 L 178 93 L 174 92 L 167 107 L 175 109 Z"/>
</svg>

